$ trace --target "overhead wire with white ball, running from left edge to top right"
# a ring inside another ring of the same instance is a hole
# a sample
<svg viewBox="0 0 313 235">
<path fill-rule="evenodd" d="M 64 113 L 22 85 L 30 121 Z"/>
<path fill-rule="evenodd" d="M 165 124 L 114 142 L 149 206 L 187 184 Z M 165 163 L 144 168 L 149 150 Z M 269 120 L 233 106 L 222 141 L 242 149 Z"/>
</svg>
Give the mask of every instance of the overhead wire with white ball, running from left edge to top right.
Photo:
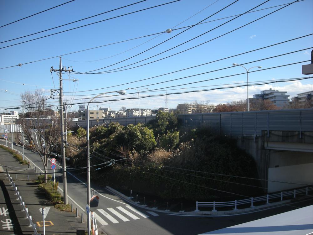
<svg viewBox="0 0 313 235">
<path fill-rule="evenodd" d="M 305 1 L 305 0 L 300 0 L 297 3 L 302 2 L 302 1 Z M 276 6 L 269 7 L 269 8 L 280 7 L 280 6 L 287 5 L 287 4 L 289 4 L 289 3 L 276 5 Z M 266 9 L 269 9 L 269 8 L 262 8 L 262 9 L 251 11 L 251 12 L 248 12 L 248 13 L 262 11 L 262 10 L 266 10 Z M 248 13 L 246 13 L 246 14 L 248 14 Z M 234 17 L 234 16 L 238 16 L 238 15 L 228 16 L 228 17 L 224 17 L 224 18 L 218 18 L 218 19 L 215 19 L 215 20 L 202 22 L 200 24 L 206 24 L 206 23 L 210 23 L 210 22 L 213 22 L 213 21 L 217 21 L 217 20 L 221 20 L 221 19 L 225 19 L 225 18 L 230 18 L 230 17 Z M 198 25 L 200 25 L 200 24 L 198 24 Z M 172 31 L 183 29 L 183 28 L 187 28 L 187 27 L 190 27 L 190 26 L 192 26 L 192 25 L 185 26 L 185 27 L 178 28 L 178 29 L 173 29 Z M 101 45 L 101 46 L 96 46 L 96 47 L 84 49 L 84 50 L 74 51 L 74 52 L 70 52 L 70 53 L 67 53 L 67 54 L 63 54 L 63 55 L 52 56 L 52 57 L 44 58 L 44 59 L 41 59 L 41 60 L 34 60 L 34 61 L 26 62 L 26 63 L 21 63 L 21 65 L 27 65 L 27 64 L 31 64 L 31 63 L 35 63 L 35 62 L 39 62 L 39 61 L 43 61 L 43 60 L 49 60 L 49 59 L 57 58 L 57 57 L 64 56 L 64 55 L 71 55 L 71 54 L 75 54 L 75 53 L 79 53 L 79 52 L 83 52 L 83 51 L 87 51 L 87 50 L 93 50 L 93 49 L 97 49 L 97 48 L 100 48 L 100 47 L 105 47 L 105 46 L 109 46 L 109 45 L 113 45 L 113 44 L 118 44 L 118 43 L 127 42 L 127 41 L 131 41 L 131 40 L 135 40 L 135 39 L 140 39 L 140 38 L 144 38 L 144 37 L 153 36 L 153 35 L 156 35 L 156 34 L 163 34 L 165 32 L 166 31 L 159 32 L 159 33 L 154 33 L 154 34 L 149 34 L 149 35 L 145 35 L 145 36 L 140 36 L 140 37 L 137 37 L 137 38 L 127 39 L 127 40 L 123 40 L 123 41 L 118 41 L 118 42 L 114 42 L 114 43 L 110 43 L 110 44 L 105 44 L 105 45 Z M 3 68 L 0 68 L 0 69 L 7 69 L 7 68 L 16 67 L 16 66 L 19 66 L 19 65 L 11 65 L 11 66 L 3 67 Z"/>
</svg>

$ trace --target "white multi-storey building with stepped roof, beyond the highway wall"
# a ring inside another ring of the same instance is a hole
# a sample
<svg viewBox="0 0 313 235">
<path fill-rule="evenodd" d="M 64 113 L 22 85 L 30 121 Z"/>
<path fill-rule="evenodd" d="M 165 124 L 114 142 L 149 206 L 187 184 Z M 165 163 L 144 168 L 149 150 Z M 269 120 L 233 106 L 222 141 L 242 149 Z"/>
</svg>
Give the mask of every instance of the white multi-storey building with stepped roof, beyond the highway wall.
<svg viewBox="0 0 313 235">
<path fill-rule="evenodd" d="M 274 105 L 277 107 L 283 108 L 288 105 L 289 103 L 289 95 L 286 95 L 287 91 L 278 91 L 269 90 L 261 91 L 260 94 L 253 95 L 254 99 L 262 99 L 262 100 L 270 100 Z"/>
</svg>

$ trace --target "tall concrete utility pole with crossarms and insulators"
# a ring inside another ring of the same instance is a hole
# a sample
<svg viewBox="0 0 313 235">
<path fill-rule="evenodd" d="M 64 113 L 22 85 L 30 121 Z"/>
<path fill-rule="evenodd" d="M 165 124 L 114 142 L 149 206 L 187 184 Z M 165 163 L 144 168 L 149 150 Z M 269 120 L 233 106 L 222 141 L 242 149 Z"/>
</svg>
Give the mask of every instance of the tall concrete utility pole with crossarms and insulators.
<svg viewBox="0 0 313 235">
<path fill-rule="evenodd" d="M 70 72 L 71 70 L 66 70 L 65 67 L 62 68 L 62 60 L 60 57 L 60 66 L 59 69 L 53 69 L 51 67 L 50 71 L 59 72 L 59 81 L 60 81 L 60 91 L 59 91 L 59 100 L 60 100 L 60 116 L 61 116 L 61 148 L 62 148 L 62 168 L 63 168 L 63 198 L 64 204 L 68 204 L 67 200 L 67 179 L 66 179 L 66 164 L 65 164 L 65 139 L 64 139 L 64 114 L 63 114 L 63 85 L 62 85 L 62 72 Z"/>
</svg>

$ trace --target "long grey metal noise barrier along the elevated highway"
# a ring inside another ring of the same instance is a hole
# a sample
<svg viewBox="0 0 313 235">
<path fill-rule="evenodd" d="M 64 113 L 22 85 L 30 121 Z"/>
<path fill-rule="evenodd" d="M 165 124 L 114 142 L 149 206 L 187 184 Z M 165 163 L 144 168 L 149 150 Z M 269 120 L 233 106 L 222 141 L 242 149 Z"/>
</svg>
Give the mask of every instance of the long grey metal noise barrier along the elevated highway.
<svg viewBox="0 0 313 235">
<path fill-rule="evenodd" d="M 123 126 L 136 125 L 154 118 L 155 116 L 89 120 L 89 126 L 111 122 Z M 178 114 L 177 118 L 186 127 L 208 125 L 219 133 L 230 136 L 260 136 L 265 130 L 268 134 L 269 131 L 298 131 L 301 137 L 302 131 L 313 131 L 313 109 Z M 76 123 L 85 128 L 87 121 L 74 121 L 72 126 Z"/>
</svg>

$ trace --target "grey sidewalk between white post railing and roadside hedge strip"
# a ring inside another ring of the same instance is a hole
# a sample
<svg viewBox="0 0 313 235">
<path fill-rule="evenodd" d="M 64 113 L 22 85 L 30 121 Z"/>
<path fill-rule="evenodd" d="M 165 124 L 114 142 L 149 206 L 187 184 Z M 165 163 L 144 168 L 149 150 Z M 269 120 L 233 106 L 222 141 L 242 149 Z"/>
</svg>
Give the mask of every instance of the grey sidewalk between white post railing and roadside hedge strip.
<svg viewBox="0 0 313 235">
<path fill-rule="evenodd" d="M 42 207 L 50 207 L 49 213 L 45 218 L 45 233 L 47 235 L 76 234 L 76 230 L 85 230 L 86 223 L 81 223 L 81 218 L 76 217 L 76 213 L 58 211 L 51 203 L 49 203 L 49 201 L 45 199 L 44 195 L 38 192 L 38 185 L 35 183 L 38 175 L 32 169 L 32 166 L 28 169 L 28 165 L 19 164 L 17 160 L 8 154 L 9 153 L 7 151 L 0 149 L 0 165 L 2 165 L 2 168 L 0 167 L 0 171 L 5 172 L 8 170 L 8 173 L 11 175 L 20 195 L 22 196 L 22 200 L 28 208 L 29 215 L 32 216 L 33 223 L 37 225 L 38 232 L 43 234 L 43 217 L 39 211 L 39 208 Z M 10 206 L 8 205 L 10 202 L 8 201 L 11 201 L 11 206 L 17 204 L 16 199 L 14 198 L 15 192 L 12 190 L 12 186 L 5 173 L 0 173 L 0 181 L 2 181 L 7 188 L 8 195 L 11 199 L 5 200 L 7 207 Z M 25 213 L 23 214 L 23 217 L 26 217 Z M 19 216 L 18 222 L 23 234 L 32 234 L 31 227 L 25 225 L 25 221 L 23 220 L 22 222 L 21 217 Z"/>
</svg>

